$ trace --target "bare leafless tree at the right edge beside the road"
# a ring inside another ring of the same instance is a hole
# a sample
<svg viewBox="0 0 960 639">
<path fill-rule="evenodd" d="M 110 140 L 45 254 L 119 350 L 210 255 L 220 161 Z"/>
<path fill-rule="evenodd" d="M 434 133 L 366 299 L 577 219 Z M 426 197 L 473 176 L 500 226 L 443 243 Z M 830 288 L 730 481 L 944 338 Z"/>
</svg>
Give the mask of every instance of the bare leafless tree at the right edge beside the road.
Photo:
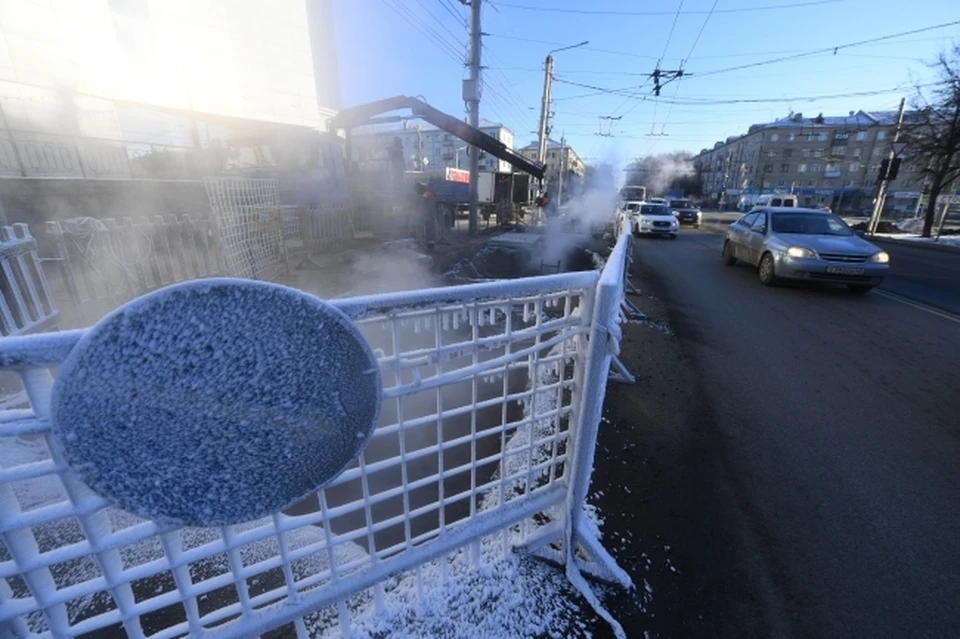
<svg viewBox="0 0 960 639">
<path fill-rule="evenodd" d="M 960 178 L 960 45 L 940 53 L 931 66 L 939 77 L 928 93 L 917 87 L 916 111 L 906 126 L 910 140 L 908 157 L 921 167 L 930 187 L 923 237 L 930 237 L 933 229 L 937 198 L 942 192 L 949 192 Z"/>
</svg>

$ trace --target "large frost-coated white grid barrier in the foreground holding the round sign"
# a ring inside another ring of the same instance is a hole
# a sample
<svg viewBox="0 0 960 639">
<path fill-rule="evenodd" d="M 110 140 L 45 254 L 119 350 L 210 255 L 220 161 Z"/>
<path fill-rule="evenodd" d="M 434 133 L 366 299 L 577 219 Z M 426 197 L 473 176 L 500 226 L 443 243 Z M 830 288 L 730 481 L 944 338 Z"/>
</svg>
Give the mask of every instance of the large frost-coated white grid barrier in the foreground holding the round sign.
<svg viewBox="0 0 960 639">
<path fill-rule="evenodd" d="M 49 420 L 50 369 L 85 331 L 0 340 L 30 400 L 0 411 L 0 635 L 347 634 L 401 584 L 521 547 L 622 634 L 581 570 L 631 585 L 583 516 L 628 253 L 624 237 L 600 274 L 335 302 L 377 354 L 378 428 L 315 497 L 242 525 L 164 528 L 94 494 Z"/>
</svg>

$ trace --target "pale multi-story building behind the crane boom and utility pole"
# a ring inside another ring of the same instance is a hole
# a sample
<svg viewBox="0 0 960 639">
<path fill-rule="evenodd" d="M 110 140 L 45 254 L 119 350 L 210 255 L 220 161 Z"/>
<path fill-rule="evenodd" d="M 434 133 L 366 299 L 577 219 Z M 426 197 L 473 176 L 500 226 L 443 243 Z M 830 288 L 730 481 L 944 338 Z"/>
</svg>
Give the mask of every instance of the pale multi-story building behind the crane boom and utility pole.
<svg viewBox="0 0 960 639">
<path fill-rule="evenodd" d="M 513 131 L 498 122 L 481 120 L 480 130 L 513 149 Z M 396 139 L 403 145 L 407 170 L 433 171 L 445 168 L 467 169 L 468 145 L 460 138 L 421 120 L 409 120 L 402 126 L 374 125 L 357 128 L 352 134 L 353 160 L 361 167 L 384 162 Z M 480 170 L 508 173 L 510 163 L 485 151 L 480 152 Z"/>
</svg>

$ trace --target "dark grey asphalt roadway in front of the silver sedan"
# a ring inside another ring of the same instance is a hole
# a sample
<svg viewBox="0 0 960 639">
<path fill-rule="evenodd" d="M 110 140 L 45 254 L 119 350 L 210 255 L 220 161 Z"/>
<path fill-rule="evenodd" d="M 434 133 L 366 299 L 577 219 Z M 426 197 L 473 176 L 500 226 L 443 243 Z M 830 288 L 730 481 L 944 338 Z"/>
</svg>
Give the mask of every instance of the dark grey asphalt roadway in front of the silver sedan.
<svg viewBox="0 0 960 639">
<path fill-rule="evenodd" d="M 669 464 L 647 450 L 634 472 L 634 490 L 664 504 L 656 537 L 684 572 L 677 601 L 657 604 L 653 584 L 651 610 L 701 620 L 655 634 L 957 636 L 960 321 L 877 292 L 766 288 L 753 269 L 724 266 L 720 246 L 709 227 L 636 243 L 683 353 L 635 365 L 671 383 L 684 367 L 696 389 L 669 433 L 650 428 L 698 450 Z M 614 399 L 642 406 L 657 388 L 643 383 Z M 642 447 L 647 426 L 630 411 L 613 419 Z M 695 475 L 699 520 L 670 494 Z M 635 524 L 638 536 L 650 525 Z M 693 596 L 684 580 L 707 585 Z"/>
</svg>

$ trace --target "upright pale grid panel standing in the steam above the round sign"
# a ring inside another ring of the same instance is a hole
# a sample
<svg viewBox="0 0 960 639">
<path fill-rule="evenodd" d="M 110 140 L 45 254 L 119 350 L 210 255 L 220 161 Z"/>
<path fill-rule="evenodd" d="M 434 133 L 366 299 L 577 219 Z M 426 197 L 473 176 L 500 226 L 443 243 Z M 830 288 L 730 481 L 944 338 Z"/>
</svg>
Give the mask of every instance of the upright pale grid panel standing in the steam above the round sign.
<svg viewBox="0 0 960 639">
<path fill-rule="evenodd" d="M 269 279 L 289 270 L 277 180 L 204 178 L 204 184 L 227 273 Z"/>
</svg>

